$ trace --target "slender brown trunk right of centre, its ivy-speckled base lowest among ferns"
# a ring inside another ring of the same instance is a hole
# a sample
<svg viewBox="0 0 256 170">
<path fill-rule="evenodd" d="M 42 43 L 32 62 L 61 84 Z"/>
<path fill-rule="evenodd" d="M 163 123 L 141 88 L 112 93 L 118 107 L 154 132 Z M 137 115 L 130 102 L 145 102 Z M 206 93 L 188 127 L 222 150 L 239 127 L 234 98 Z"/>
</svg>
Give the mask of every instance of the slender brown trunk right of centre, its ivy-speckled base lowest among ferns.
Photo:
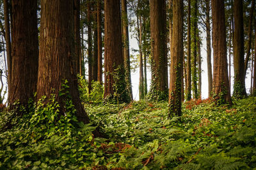
<svg viewBox="0 0 256 170">
<path fill-rule="evenodd" d="M 173 0 L 173 33 L 171 49 L 171 70 L 169 107 L 170 116 L 181 116 L 181 81 L 183 60 L 183 1 Z"/>
</svg>

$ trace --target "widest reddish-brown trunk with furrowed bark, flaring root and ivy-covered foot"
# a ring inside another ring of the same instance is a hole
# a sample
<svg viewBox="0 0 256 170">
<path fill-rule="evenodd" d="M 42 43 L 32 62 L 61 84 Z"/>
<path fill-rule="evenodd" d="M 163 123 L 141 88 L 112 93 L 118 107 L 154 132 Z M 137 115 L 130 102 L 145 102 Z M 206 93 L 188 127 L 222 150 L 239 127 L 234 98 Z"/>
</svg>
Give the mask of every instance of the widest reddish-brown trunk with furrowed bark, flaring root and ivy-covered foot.
<svg viewBox="0 0 256 170">
<path fill-rule="evenodd" d="M 74 58 L 73 10 L 73 1 L 41 1 L 37 98 L 40 99 L 44 95 L 49 98 L 51 93 L 54 93 L 56 101 L 60 103 L 60 111 L 64 113 L 65 98 L 60 97 L 59 91 L 63 80 L 67 80 L 77 119 L 89 123 L 89 118 L 79 98 L 76 70 L 72 65 Z"/>
</svg>

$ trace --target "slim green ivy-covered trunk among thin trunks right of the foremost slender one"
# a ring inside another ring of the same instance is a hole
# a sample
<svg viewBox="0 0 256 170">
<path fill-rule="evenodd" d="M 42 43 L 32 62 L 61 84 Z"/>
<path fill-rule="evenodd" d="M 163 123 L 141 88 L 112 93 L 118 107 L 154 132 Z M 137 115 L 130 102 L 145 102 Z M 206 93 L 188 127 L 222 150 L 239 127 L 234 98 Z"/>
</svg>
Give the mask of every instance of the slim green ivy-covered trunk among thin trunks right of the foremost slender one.
<svg viewBox="0 0 256 170">
<path fill-rule="evenodd" d="M 196 40 L 196 33 L 198 31 L 197 28 L 197 0 L 193 0 L 193 34 L 192 34 L 192 50 L 193 50 L 193 58 L 192 58 L 192 91 L 193 91 L 193 98 L 198 98 L 198 89 L 197 89 L 197 69 L 196 69 L 196 63 L 197 63 L 197 40 Z"/>
</svg>

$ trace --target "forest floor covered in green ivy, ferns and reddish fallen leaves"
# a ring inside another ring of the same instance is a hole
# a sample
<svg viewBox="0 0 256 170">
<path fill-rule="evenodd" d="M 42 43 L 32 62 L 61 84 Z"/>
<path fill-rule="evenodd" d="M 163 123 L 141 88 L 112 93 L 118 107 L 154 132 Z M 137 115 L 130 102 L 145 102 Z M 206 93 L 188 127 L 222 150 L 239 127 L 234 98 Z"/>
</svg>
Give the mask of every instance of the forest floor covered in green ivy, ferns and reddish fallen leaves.
<svg viewBox="0 0 256 170">
<path fill-rule="evenodd" d="M 233 102 L 191 100 L 172 118 L 167 102 L 85 104 L 89 125 L 54 102 L 31 105 L 0 132 L 0 169 L 256 169 L 256 98 Z"/>
</svg>

